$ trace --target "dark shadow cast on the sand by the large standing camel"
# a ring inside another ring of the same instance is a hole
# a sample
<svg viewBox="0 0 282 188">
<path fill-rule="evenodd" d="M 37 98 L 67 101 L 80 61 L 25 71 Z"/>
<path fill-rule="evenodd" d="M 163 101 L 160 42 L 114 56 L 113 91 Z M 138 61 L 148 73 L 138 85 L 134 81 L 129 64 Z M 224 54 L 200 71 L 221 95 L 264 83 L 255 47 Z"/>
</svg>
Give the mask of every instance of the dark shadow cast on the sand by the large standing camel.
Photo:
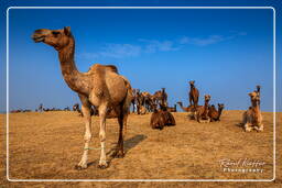
<svg viewBox="0 0 282 188">
<path fill-rule="evenodd" d="M 143 134 L 137 134 L 137 135 L 134 135 L 134 136 L 132 136 L 132 137 L 126 140 L 124 143 L 123 143 L 124 157 L 126 157 L 127 153 L 128 153 L 131 148 L 135 147 L 140 142 L 144 141 L 145 139 L 147 139 L 145 135 L 143 135 Z M 110 151 L 106 153 L 106 155 L 108 156 L 107 161 L 108 161 L 108 165 L 109 165 L 109 166 L 110 166 L 110 164 L 111 164 L 111 161 L 115 158 L 115 157 L 111 155 L 115 151 L 116 151 L 116 146 L 111 147 Z M 95 165 L 95 164 L 98 165 L 98 163 L 99 163 L 99 159 L 96 159 L 96 161 L 89 162 L 89 163 L 87 164 L 87 166 L 89 167 L 89 166 L 93 166 L 93 165 Z"/>
</svg>

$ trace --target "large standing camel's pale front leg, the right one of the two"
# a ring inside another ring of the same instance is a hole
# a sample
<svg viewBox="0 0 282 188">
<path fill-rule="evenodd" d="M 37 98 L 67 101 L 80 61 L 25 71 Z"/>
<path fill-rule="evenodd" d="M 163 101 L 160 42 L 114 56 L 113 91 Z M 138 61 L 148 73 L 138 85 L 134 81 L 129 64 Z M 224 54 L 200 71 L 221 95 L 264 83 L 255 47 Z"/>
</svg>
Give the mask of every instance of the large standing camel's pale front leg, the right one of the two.
<svg viewBox="0 0 282 188">
<path fill-rule="evenodd" d="M 106 115 L 107 115 L 107 106 L 100 106 L 99 117 L 100 117 L 100 144 L 101 144 L 101 154 L 98 167 L 104 169 L 108 167 L 108 162 L 106 158 Z"/>
</svg>

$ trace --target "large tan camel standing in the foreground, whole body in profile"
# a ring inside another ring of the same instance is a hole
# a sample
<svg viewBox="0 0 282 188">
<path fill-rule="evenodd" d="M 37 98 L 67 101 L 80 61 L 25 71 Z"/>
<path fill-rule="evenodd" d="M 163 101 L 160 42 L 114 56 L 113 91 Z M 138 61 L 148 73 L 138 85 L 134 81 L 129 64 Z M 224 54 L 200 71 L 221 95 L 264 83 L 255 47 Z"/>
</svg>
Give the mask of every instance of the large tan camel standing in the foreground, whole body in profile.
<svg viewBox="0 0 282 188">
<path fill-rule="evenodd" d="M 67 86 L 82 101 L 82 111 L 85 120 L 85 144 L 80 162 L 76 169 L 87 168 L 89 142 L 91 140 L 91 106 L 97 107 L 100 118 L 100 159 L 98 167 L 107 168 L 106 158 L 106 119 L 109 109 L 116 112 L 119 123 L 119 139 L 113 157 L 123 157 L 123 126 L 126 132 L 129 107 L 132 98 L 132 88 L 128 79 L 118 74 L 113 65 L 93 65 L 87 73 L 77 70 L 74 54 L 75 40 L 69 26 L 62 30 L 36 30 L 32 38 L 35 43 L 45 43 L 57 51 L 61 69 Z M 124 133 L 126 134 L 126 133 Z"/>
</svg>

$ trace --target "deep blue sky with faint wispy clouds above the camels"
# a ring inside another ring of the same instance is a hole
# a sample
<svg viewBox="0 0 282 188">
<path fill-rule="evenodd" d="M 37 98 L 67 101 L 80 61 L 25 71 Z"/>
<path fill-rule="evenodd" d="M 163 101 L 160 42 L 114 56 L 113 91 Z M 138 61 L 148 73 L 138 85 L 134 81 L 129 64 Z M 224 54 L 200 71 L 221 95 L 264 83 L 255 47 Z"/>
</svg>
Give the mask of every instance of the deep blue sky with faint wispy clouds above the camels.
<svg viewBox="0 0 282 188">
<path fill-rule="evenodd" d="M 209 93 L 210 103 L 228 110 L 247 109 L 248 92 L 261 85 L 261 108 L 273 109 L 271 9 L 12 9 L 9 25 L 10 109 L 79 101 L 63 80 L 55 49 L 31 40 L 34 30 L 63 26 L 72 27 L 80 71 L 113 64 L 133 88 L 153 93 L 165 87 L 170 106 L 187 106 L 187 81 L 195 80 L 199 103 Z"/>
</svg>

